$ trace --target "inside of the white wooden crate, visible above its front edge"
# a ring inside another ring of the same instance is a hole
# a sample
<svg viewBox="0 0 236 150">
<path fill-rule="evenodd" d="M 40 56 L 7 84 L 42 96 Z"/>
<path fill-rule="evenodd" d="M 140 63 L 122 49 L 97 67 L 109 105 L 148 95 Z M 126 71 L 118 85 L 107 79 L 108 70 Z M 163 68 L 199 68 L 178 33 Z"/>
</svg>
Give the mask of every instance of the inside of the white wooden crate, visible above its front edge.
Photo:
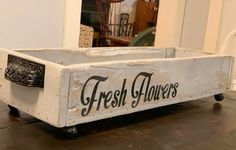
<svg viewBox="0 0 236 150">
<path fill-rule="evenodd" d="M 45 49 L 45 50 L 18 50 L 18 52 L 31 55 L 43 60 L 61 65 L 73 65 L 94 62 L 123 61 L 154 58 L 175 58 L 203 55 L 201 52 L 188 50 L 176 51 L 175 48 L 148 48 L 148 47 L 122 47 L 122 48 L 90 48 L 90 49 Z"/>
</svg>

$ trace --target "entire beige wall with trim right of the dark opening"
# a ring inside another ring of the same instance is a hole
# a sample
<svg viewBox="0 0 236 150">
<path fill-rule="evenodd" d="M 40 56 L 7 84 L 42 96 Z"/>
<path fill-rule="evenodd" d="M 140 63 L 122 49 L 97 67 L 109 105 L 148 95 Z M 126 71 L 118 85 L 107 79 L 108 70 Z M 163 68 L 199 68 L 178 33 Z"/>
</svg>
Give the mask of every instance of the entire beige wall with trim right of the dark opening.
<svg viewBox="0 0 236 150">
<path fill-rule="evenodd" d="M 235 6 L 236 0 L 161 0 L 155 46 L 219 52 L 236 28 Z"/>
</svg>

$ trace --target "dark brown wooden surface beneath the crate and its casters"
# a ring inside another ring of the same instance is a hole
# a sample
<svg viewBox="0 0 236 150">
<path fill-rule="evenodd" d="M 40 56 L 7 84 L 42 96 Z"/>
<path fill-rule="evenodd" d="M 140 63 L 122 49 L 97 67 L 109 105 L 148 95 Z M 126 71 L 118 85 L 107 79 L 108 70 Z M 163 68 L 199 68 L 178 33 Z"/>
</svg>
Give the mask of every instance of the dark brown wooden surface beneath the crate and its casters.
<svg viewBox="0 0 236 150">
<path fill-rule="evenodd" d="M 9 114 L 0 102 L 0 150 L 234 150 L 236 101 L 186 102 L 79 125 L 64 133 L 25 113 Z"/>
</svg>

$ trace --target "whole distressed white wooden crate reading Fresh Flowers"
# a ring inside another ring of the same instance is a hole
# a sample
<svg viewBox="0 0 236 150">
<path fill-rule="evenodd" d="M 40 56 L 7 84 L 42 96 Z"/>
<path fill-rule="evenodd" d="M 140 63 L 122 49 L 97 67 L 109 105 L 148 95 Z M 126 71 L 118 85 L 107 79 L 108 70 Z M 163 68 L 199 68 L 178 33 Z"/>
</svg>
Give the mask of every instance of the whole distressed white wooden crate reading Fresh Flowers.
<svg viewBox="0 0 236 150">
<path fill-rule="evenodd" d="M 44 66 L 44 85 L 7 80 L 9 56 L 21 59 L 12 59 L 13 76 L 25 60 Z M 74 126 L 225 93 L 232 69 L 231 56 L 180 48 L 1 49 L 0 99 L 53 126 Z"/>
</svg>

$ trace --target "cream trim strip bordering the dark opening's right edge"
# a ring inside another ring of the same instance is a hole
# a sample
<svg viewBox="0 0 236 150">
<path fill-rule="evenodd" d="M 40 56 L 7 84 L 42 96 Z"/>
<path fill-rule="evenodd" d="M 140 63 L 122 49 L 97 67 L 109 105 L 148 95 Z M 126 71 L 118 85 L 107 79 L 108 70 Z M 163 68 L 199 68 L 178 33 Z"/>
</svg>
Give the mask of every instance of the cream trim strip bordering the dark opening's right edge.
<svg viewBox="0 0 236 150">
<path fill-rule="evenodd" d="M 155 47 L 179 47 L 186 0 L 160 0 Z"/>
</svg>

